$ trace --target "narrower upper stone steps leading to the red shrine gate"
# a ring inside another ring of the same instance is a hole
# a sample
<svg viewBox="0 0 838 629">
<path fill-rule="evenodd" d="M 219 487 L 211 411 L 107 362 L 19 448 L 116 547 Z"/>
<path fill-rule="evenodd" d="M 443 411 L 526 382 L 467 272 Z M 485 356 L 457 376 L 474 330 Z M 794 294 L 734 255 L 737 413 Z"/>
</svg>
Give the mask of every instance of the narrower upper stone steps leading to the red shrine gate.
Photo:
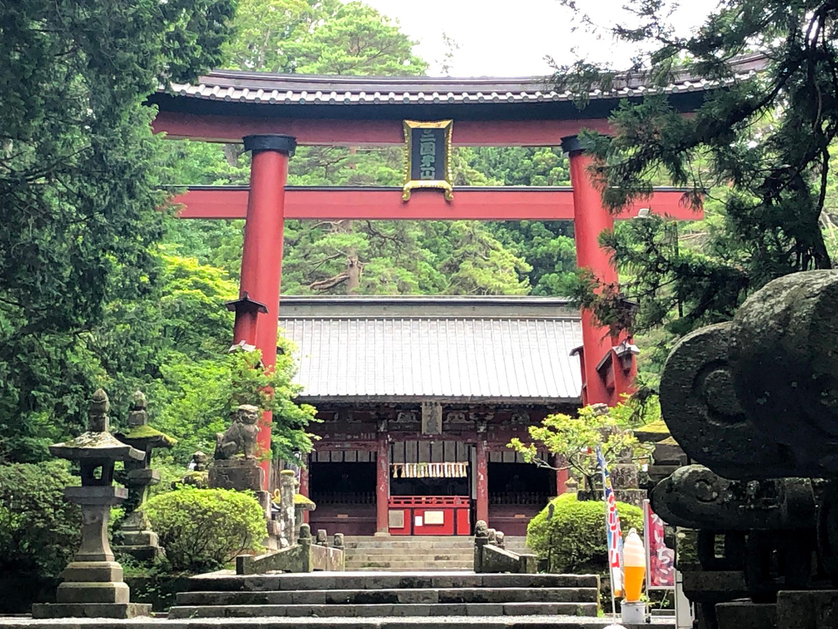
<svg viewBox="0 0 838 629">
<path fill-rule="evenodd" d="M 525 551 L 526 538 L 506 538 L 506 548 Z M 472 570 L 473 537 L 347 537 L 347 570 Z"/>
</svg>

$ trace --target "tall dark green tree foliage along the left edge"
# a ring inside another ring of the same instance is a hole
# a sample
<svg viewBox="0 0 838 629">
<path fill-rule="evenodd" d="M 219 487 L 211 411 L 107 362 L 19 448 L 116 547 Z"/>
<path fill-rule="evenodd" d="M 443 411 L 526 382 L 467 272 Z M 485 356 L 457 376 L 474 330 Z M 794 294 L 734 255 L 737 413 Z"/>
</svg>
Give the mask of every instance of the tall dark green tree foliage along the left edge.
<svg viewBox="0 0 838 629">
<path fill-rule="evenodd" d="M 0 4 L 0 459 L 76 432 L 105 370 L 88 335 L 147 296 L 155 147 L 142 106 L 220 61 L 233 0 Z"/>
</svg>

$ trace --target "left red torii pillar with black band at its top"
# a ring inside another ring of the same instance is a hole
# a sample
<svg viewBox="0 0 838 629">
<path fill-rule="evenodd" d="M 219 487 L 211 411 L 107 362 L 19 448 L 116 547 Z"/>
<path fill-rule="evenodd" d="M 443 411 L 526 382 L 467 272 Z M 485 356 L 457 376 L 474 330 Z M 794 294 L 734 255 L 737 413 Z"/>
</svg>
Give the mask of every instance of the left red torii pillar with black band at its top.
<svg viewBox="0 0 838 629">
<path fill-rule="evenodd" d="M 246 136 L 244 142 L 245 150 L 251 151 L 251 185 L 239 299 L 230 304 L 235 309 L 233 343 L 256 346 L 261 351 L 262 364 L 270 369 L 277 363 L 288 159 L 297 148 L 297 140 L 266 134 Z M 258 437 L 261 452 L 271 450 L 271 424 L 271 413 L 265 413 Z M 268 482 L 270 461 L 263 461 L 261 466 Z"/>
</svg>

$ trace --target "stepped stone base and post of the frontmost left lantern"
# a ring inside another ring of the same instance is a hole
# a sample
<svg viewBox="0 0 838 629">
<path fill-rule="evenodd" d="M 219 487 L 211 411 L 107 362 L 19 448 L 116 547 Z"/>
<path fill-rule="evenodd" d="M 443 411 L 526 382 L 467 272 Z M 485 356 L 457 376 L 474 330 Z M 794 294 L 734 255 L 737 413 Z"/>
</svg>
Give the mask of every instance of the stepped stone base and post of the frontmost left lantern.
<svg viewBox="0 0 838 629">
<path fill-rule="evenodd" d="M 111 506 L 127 497 L 124 487 L 67 487 L 65 499 L 81 505 L 81 546 L 67 565 L 55 603 L 32 606 L 34 618 L 147 616 L 150 605 L 129 602 L 122 566 L 114 561 L 107 539 Z"/>
</svg>

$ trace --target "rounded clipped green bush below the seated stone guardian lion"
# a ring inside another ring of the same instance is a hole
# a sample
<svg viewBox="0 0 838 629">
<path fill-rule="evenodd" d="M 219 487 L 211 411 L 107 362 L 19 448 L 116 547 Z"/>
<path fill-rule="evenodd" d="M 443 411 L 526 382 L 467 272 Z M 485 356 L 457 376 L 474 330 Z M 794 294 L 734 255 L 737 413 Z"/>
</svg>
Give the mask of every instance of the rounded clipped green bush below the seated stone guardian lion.
<svg viewBox="0 0 838 629">
<path fill-rule="evenodd" d="M 265 513 L 241 491 L 184 488 L 148 500 L 142 511 L 173 570 L 217 569 L 237 554 L 258 552 Z"/>
</svg>

